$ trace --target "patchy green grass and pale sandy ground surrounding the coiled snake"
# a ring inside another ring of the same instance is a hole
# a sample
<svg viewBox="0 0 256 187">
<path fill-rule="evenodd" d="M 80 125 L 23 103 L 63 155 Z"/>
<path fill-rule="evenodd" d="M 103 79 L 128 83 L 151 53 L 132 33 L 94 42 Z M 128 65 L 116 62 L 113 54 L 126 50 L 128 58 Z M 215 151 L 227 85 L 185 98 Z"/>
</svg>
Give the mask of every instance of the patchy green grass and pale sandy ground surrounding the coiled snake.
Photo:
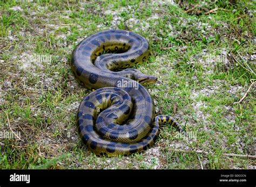
<svg viewBox="0 0 256 187">
<path fill-rule="evenodd" d="M 252 158 L 226 154 L 255 154 L 255 84 L 234 102 L 255 81 L 256 4 L 186 1 L 198 4 L 186 11 L 177 2 L 1 2 L 0 127 L 21 132 L 22 141 L 0 139 L 0 168 L 255 169 Z M 157 113 L 171 114 L 196 139 L 163 126 L 144 153 L 108 158 L 86 149 L 76 113 L 91 91 L 73 77 L 70 55 L 110 28 L 147 38 L 150 59 L 136 68 L 160 81 L 147 87 Z"/>
</svg>

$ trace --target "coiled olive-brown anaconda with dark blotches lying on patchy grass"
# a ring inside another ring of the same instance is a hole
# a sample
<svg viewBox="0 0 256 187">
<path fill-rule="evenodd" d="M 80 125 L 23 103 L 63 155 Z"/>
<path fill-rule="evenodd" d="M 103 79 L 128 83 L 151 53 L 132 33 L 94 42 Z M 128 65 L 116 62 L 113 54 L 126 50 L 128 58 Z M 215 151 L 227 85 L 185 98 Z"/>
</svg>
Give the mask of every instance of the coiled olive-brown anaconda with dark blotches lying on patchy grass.
<svg viewBox="0 0 256 187">
<path fill-rule="evenodd" d="M 183 132 L 172 117 L 155 117 L 153 100 L 143 85 L 153 84 L 157 78 L 129 68 L 148 57 L 147 40 L 124 30 L 92 34 L 74 49 L 73 73 L 80 84 L 95 90 L 79 105 L 78 132 L 96 155 L 129 155 L 146 150 L 157 139 L 163 123 Z"/>
</svg>

